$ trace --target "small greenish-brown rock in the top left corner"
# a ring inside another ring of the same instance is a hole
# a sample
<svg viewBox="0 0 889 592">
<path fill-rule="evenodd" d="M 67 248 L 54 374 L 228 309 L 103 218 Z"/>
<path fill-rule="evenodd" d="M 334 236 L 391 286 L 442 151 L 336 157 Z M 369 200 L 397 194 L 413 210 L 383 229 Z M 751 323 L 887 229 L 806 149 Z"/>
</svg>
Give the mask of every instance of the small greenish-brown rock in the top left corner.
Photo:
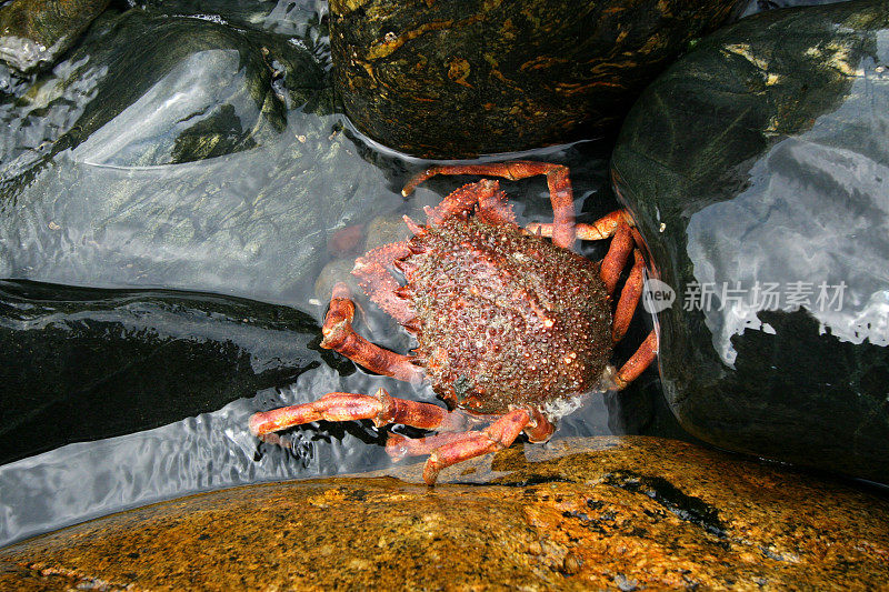
<svg viewBox="0 0 889 592">
<path fill-rule="evenodd" d="M 12 0 L 0 8 L 0 60 L 21 72 L 67 51 L 109 0 Z"/>
</svg>

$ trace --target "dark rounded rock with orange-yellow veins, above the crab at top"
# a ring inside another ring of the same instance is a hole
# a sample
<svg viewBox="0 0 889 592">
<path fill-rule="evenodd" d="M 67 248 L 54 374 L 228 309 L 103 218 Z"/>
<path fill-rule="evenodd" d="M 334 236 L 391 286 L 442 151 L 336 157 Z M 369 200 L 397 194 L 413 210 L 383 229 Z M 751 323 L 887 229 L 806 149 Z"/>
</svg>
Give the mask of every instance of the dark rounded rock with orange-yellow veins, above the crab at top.
<svg viewBox="0 0 889 592">
<path fill-rule="evenodd" d="M 471 158 L 601 134 L 746 0 L 330 2 L 346 114 L 378 142 Z"/>
</svg>

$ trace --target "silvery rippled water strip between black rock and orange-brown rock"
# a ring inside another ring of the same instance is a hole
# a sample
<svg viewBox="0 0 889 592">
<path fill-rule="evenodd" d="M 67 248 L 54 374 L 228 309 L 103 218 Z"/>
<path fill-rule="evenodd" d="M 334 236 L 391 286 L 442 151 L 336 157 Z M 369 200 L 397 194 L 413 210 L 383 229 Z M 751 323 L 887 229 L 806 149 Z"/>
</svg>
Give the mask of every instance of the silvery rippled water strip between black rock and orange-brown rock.
<svg viewBox="0 0 889 592">
<path fill-rule="evenodd" d="M 336 440 L 336 445 L 313 446 L 307 441 L 296 446 L 293 458 L 292 451 L 278 446 L 260 449 L 244 428 L 260 408 L 307 402 L 317 392 L 342 387 L 334 371 L 319 369 L 291 388 L 262 391 L 256 399 L 240 399 L 213 413 L 4 464 L 0 466 L 0 544 L 187 492 L 379 468 L 384 455 L 348 432 L 336 439 L 311 431 L 297 435 Z"/>
</svg>

